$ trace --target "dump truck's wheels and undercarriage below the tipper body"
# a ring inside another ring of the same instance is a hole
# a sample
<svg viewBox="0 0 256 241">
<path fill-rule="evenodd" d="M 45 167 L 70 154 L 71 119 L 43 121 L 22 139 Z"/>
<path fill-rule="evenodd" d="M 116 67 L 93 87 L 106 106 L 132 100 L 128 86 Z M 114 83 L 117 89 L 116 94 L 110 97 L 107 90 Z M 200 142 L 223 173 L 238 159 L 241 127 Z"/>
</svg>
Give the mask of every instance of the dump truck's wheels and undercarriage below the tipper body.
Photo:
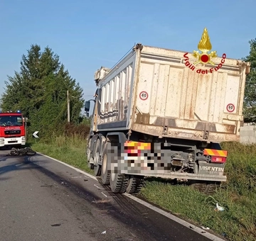
<svg viewBox="0 0 256 241">
<path fill-rule="evenodd" d="M 134 143 L 143 143 L 144 146 L 150 146 L 150 149 L 136 152 L 139 149 L 136 146 L 139 145 Z M 144 177 L 153 176 L 174 179 L 205 194 L 213 194 L 215 187 L 221 181 L 226 181 L 226 176 L 223 175 L 226 152 L 224 151 L 225 157 L 216 157 L 216 154 L 206 155 L 206 150 L 223 152 L 218 143 L 156 138 L 142 133 L 132 133 L 128 140 L 123 132 L 91 132 L 87 137 L 86 153 L 90 169 L 94 169 L 95 176 L 102 184 L 110 185 L 113 193 L 139 193 Z M 124 157 L 126 160 L 122 162 Z M 142 157 L 139 162 L 138 157 Z M 142 159 L 146 164 L 145 171 L 140 165 L 135 167 L 142 163 Z M 218 161 L 213 162 L 213 159 Z M 116 169 L 113 164 L 116 164 Z"/>
</svg>

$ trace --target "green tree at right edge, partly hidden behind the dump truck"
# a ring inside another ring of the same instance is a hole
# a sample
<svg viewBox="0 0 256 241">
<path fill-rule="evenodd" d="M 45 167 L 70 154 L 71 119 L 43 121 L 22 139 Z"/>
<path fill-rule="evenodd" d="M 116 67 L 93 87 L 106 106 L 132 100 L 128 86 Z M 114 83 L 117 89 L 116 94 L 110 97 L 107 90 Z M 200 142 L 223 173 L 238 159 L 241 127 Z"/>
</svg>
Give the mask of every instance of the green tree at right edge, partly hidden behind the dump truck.
<svg viewBox="0 0 256 241">
<path fill-rule="evenodd" d="M 246 122 L 256 122 L 256 38 L 250 40 L 250 55 L 242 58 L 250 62 L 250 74 L 247 74 L 245 82 L 245 99 L 243 114 Z"/>
</svg>

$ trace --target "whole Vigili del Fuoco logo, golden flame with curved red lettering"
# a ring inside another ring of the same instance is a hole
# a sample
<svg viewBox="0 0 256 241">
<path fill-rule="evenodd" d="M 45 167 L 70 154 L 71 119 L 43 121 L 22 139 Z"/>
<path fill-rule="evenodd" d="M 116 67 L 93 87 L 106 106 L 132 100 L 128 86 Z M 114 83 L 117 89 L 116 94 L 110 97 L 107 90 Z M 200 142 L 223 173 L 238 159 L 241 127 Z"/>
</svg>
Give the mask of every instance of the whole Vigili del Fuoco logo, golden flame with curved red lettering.
<svg viewBox="0 0 256 241">
<path fill-rule="evenodd" d="M 190 62 L 188 58 L 188 52 L 186 52 L 186 54 L 183 55 L 183 57 L 185 58 L 186 67 L 188 67 L 193 71 L 196 70 L 198 74 L 213 73 L 214 71 L 218 71 L 218 69 L 223 67 L 223 64 L 225 63 L 226 54 L 222 55 L 222 59 L 220 63 L 216 66 L 213 60 L 218 55 L 216 51 L 210 51 L 212 50 L 212 45 L 210 43 L 210 37 L 208 35 L 207 28 L 203 30 L 203 35 L 201 37 L 200 42 L 198 43 L 198 50 L 199 51 L 193 50 L 192 56 L 196 58 L 196 61 L 193 62 L 193 64 Z M 198 65 L 199 63 L 203 65 L 210 64 L 210 65 L 213 65 L 214 67 L 210 69 L 196 69 L 196 65 Z"/>
</svg>

